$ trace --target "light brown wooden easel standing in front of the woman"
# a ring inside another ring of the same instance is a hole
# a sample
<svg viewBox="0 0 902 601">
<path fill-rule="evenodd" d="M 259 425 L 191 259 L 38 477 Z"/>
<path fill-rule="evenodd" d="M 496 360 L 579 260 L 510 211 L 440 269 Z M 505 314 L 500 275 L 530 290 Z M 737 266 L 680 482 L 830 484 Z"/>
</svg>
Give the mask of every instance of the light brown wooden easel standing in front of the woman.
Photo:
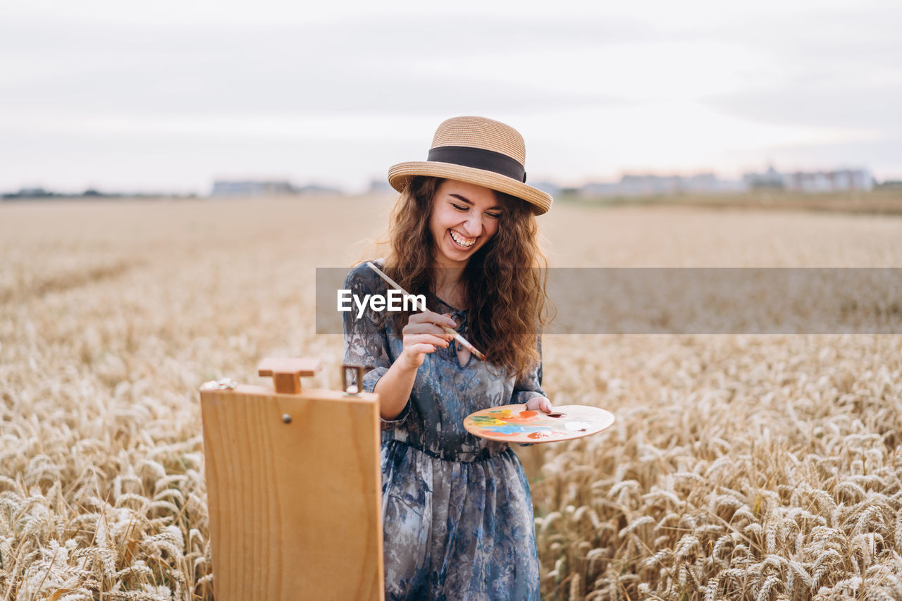
<svg viewBox="0 0 902 601">
<path fill-rule="evenodd" d="M 220 380 L 200 390 L 216 601 L 379 599 L 379 403 L 301 391 L 317 359 L 265 359 L 274 390 Z"/>
</svg>

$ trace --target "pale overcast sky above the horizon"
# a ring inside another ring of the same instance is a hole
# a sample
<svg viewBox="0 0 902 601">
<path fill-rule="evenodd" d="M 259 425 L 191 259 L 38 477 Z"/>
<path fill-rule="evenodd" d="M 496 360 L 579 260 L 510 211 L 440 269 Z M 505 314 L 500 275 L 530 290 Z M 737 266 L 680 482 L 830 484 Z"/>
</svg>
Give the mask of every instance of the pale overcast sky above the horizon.
<svg viewBox="0 0 902 601">
<path fill-rule="evenodd" d="M 3 0 L 0 191 L 363 190 L 457 115 L 519 129 L 532 181 L 902 179 L 900 28 L 896 0 Z"/>
</svg>

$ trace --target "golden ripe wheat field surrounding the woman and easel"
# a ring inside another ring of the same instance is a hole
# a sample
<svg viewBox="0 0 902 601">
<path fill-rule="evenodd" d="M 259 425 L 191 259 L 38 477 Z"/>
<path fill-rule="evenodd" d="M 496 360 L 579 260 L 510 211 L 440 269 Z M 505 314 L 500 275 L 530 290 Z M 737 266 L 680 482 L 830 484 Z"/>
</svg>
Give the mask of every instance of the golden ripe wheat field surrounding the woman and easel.
<svg viewBox="0 0 902 601">
<path fill-rule="evenodd" d="M 391 199 L 0 203 L 0 599 L 212 599 L 198 386 L 318 356 Z M 554 266 L 902 267 L 902 219 L 559 203 Z M 867 298 L 869 291 L 861 291 Z M 591 300 L 589 300 L 591 301 Z M 879 301 L 879 300 L 877 300 Z M 902 337 L 549 336 L 546 599 L 902 599 Z"/>
</svg>

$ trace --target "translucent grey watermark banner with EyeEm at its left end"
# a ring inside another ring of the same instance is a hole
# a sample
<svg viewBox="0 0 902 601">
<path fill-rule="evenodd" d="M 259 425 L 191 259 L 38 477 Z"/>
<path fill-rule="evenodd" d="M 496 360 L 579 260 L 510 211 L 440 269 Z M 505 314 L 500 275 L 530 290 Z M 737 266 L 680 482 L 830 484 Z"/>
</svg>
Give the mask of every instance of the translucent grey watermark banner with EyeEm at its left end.
<svg viewBox="0 0 902 601">
<path fill-rule="evenodd" d="M 340 334 L 345 316 L 389 311 L 348 292 L 341 310 L 348 272 L 317 268 L 318 334 Z M 548 297 L 556 314 L 546 335 L 902 334 L 895 267 L 557 267 Z"/>
</svg>

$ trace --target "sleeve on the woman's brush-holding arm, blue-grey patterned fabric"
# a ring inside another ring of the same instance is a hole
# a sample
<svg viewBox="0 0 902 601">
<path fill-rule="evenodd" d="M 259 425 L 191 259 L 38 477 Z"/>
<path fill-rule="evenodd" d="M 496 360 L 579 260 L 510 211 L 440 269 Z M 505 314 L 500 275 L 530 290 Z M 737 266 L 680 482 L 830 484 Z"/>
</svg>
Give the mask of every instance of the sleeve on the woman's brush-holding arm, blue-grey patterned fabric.
<svg viewBox="0 0 902 601">
<path fill-rule="evenodd" d="M 384 286 L 379 291 L 378 277 L 365 264 L 358 265 L 345 278 L 345 290 L 350 290 L 361 299 L 366 294 L 382 293 Z M 342 313 L 342 333 L 345 336 L 345 364 L 364 366 L 364 392 L 372 393 L 379 378 L 391 367 L 385 321 L 370 309 L 365 310 L 361 318 L 357 319 L 354 307 L 353 310 Z M 382 430 L 396 428 L 407 419 L 408 413 L 410 399 L 397 418 L 382 420 Z"/>
</svg>

